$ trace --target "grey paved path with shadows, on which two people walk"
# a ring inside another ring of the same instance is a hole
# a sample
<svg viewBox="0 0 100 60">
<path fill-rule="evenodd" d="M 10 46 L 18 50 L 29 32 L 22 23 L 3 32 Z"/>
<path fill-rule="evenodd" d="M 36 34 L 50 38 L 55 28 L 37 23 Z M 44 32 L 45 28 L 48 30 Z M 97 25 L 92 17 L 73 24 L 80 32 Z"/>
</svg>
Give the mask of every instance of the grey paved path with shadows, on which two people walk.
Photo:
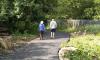
<svg viewBox="0 0 100 60">
<path fill-rule="evenodd" d="M 55 39 L 50 39 L 50 34 L 46 33 L 44 40 L 36 38 L 8 57 L 2 57 L 0 60 L 59 60 L 58 50 L 61 41 L 67 40 L 66 33 L 57 33 Z"/>
</svg>

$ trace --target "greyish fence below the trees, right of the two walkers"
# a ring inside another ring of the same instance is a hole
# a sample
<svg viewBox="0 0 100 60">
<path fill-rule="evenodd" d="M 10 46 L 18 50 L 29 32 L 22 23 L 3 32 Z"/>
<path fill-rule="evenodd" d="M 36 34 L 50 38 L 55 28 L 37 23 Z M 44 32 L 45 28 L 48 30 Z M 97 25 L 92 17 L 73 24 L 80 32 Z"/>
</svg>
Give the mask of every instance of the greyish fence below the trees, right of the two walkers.
<svg viewBox="0 0 100 60">
<path fill-rule="evenodd" d="M 60 26 L 73 28 L 90 24 L 100 24 L 100 20 L 57 20 L 57 22 Z"/>
</svg>

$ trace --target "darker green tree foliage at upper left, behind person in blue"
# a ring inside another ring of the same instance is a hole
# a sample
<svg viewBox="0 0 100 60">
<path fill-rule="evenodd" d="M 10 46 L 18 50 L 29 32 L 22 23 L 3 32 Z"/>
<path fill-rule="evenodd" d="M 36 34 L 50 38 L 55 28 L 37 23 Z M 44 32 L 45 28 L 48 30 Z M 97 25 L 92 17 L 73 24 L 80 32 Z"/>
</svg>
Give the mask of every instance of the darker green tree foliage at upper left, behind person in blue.
<svg viewBox="0 0 100 60">
<path fill-rule="evenodd" d="M 56 4 L 57 0 L 0 0 L 0 21 L 6 21 L 11 32 L 32 31 L 34 23 L 45 20 Z"/>
</svg>

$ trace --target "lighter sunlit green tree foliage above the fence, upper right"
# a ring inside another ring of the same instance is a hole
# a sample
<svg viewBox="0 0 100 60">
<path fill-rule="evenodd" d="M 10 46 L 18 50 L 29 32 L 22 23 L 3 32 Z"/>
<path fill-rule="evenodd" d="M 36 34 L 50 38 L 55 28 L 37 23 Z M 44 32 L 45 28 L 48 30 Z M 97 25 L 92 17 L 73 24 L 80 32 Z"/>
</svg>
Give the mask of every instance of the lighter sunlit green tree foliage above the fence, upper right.
<svg viewBox="0 0 100 60">
<path fill-rule="evenodd" d="M 58 15 L 73 19 L 99 19 L 99 0 L 58 0 Z"/>
</svg>

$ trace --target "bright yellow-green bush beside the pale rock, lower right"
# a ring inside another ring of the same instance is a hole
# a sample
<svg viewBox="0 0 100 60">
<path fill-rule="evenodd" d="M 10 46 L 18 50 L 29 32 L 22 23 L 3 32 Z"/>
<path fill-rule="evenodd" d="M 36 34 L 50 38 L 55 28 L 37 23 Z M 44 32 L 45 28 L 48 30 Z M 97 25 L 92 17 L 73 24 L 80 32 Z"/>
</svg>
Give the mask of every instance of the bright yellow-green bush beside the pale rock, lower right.
<svg viewBox="0 0 100 60">
<path fill-rule="evenodd" d="M 63 42 L 61 47 L 73 46 L 77 51 L 65 53 L 70 60 L 100 60 L 100 36 L 87 35 L 71 38 L 70 42 Z"/>
</svg>

